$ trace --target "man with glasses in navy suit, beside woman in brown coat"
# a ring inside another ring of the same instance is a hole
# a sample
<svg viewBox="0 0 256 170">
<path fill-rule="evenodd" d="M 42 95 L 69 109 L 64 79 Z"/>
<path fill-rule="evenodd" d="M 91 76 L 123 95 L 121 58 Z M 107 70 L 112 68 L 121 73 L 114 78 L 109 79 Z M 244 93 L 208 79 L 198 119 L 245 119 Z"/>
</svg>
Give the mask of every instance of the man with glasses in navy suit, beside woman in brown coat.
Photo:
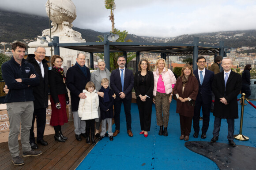
<svg viewBox="0 0 256 170">
<path fill-rule="evenodd" d="M 209 127 L 210 121 L 210 109 L 211 109 L 211 84 L 214 79 L 214 72 L 205 69 L 205 58 L 199 57 L 196 61 L 198 69 L 194 70 L 194 75 L 198 81 L 199 89 L 196 97 L 196 105 L 193 116 L 193 128 L 195 133 L 193 136 L 198 137 L 199 127 L 199 116 L 202 107 L 203 112 L 203 127 L 201 138 L 206 138 L 206 132 Z"/>
</svg>

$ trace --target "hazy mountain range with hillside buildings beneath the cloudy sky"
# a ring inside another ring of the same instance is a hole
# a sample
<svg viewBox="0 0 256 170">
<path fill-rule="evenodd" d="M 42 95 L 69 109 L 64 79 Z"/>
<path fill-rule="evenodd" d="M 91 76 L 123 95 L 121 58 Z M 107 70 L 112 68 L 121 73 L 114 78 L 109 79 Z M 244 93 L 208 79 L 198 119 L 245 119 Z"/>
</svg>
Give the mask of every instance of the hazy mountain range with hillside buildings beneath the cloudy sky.
<svg viewBox="0 0 256 170">
<path fill-rule="evenodd" d="M 17 12 L 10 12 L 0 9 L 0 43 L 11 43 L 15 40 L 25 41 L 36 40 L 38 36 L 42 35 L 44 29 L 49 28 L 49 18 L 32 14 L 22 14 Z M 91 29 L 80 29 L 72 27 L 74 30 L 82 34 L 83 39 L 87 42 L 95 42 L 100 40 L 99 35 L 108 33 L 101 33 Z M 122 31 L 122 30 L 121 30 Z M 129 30 L 126 30 L 129 31 Z M 192 43 L 193 37 L 199 37 L 200 43 L 218 45 L 219 41 L 224 41 L 225 46 L 228 47 L 255 47 L 256 46 L 256 29 L 254 30 L 238 30 L 238 31 L 223 31 L 214 33 L 199 33 L 191 35 L 181 35 L 177 37 L 149 37 L 136 36 L 128 34 L 126 39 L 131 39 L 133 42 L 155 42 L 155 43 Z M 10 45 L 6 45 L 6 47 Z M 3 45 L 0 44 L 3 49 Z"/>
</svg>

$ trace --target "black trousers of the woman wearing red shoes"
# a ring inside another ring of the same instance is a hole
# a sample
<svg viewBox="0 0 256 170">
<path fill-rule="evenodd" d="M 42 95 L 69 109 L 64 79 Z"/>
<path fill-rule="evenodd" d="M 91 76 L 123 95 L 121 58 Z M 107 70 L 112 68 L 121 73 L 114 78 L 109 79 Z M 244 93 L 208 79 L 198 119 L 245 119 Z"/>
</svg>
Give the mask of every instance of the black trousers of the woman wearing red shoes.
<svg viewBox="0 0 256 170">
<path fill-rule="evenodd" d="M 141 130 L 150 131 L 152 104 L 153 98 L 146 98 L 146 101 L 141 101 L 140 98 L 137 97 Z"/>
</svg>

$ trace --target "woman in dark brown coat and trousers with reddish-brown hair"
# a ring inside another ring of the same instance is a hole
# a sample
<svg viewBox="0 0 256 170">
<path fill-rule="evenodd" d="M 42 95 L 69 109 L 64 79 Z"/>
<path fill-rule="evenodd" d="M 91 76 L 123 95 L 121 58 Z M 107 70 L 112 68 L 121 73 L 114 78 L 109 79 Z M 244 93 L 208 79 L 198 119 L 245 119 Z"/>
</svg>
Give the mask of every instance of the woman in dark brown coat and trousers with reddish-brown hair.
<svg viewBox="0 0 256 170">
<path fill-rule="evenodd" d="M 185 64 L 181 70 L 181 76 L 177 79 L 173 94 L 177 97 L 176 112 L 180 114 L 181 137 L 180 140 L 189 140 L 194 106 L 198 93 L 198 81 L 192 72 L 192 67 Z"/>
</svg>

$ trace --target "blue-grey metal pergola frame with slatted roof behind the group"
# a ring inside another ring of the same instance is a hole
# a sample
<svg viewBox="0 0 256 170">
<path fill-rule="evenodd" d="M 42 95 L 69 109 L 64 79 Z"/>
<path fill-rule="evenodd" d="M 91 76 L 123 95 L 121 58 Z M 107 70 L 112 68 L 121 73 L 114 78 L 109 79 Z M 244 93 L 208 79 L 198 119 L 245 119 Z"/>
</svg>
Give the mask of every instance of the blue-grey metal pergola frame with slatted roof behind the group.
<svg viewBox="0 0 256 170">
<path fill-rule="evenodd" d="M 193 43 L 126 43 L 109 42 L 108 35 L 104 35 L 103 42 L 90 43 L 59 43 L 59 37 L 54 36 L 49 47 L 54 47 L 54 54 L 60 55 L 60 47 L 90 53 L 90 66 L 93 69 L 93 54 L 104 53 L 106 68 L 109 69 L 109 53 L 123 52 L 126 59 L 127 52 L 136 52 L 136 64 L 139 63 L 141 52 L 160 53 L 161 58 L 166 59 L 169 55 L 193 56 L 193 69 L 197 69 L 196 60 L 199 55 L 221 55 L 224 57 L 224 41 L 220 41 L 218 46 L 205 45 L 199 43 L 199 38 L 194 37 Z M 222 69 L 222 68 L 221 68 Z"/>
</svg>

